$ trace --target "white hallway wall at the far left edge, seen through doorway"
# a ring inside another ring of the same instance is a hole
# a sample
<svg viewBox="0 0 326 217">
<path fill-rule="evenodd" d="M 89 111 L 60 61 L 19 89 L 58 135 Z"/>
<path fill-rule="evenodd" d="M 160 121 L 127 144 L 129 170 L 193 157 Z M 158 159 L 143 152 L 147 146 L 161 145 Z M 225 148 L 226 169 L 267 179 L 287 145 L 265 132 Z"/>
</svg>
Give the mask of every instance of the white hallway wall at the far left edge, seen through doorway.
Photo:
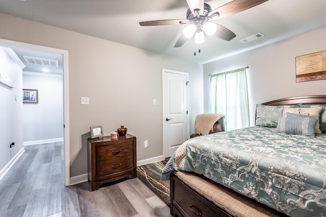
<svg viewBox="0 0 326 217">
<path fill-rule="evenodd" d="M 22 69 L 0 47 L 0 72 L 15 82 L 14 88 L 0 83 L 0 170 L 23 148 L 22 141 Z M 15 95 L 18 99 L 15 100 Z M 15 146 L 9 150 L 9 145 Z"/>
</svg>

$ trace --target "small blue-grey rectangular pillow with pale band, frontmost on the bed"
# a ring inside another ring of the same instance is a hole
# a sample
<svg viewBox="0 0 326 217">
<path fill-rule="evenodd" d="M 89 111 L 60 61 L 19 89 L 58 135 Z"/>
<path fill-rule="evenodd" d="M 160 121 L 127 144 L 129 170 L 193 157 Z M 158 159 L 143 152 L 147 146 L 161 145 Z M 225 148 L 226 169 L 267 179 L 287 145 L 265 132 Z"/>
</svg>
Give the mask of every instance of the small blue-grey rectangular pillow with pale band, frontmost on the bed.
<svg viewBox="0 0 326 217">
<path fill-rule="evenodd" d="M 292 135 L 315 137 L 315 126 L 318 122 L 317 115 L 298 115 L 279 117 L 279 124 L 275 132 Z"/>
</svg>

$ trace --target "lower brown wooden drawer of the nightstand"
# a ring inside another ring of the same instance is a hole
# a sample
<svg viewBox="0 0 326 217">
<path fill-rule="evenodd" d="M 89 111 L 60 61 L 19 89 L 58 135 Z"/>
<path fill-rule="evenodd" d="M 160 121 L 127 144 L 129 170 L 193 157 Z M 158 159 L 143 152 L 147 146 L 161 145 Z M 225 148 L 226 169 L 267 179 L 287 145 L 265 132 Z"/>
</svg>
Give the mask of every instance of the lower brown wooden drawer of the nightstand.
<svg viewBox="0 0 326 217">
<path fill-rule="evenodd" d="M 133 167 L 133 156 L 125 156 L 107 161 L 96 162 L 96 176 L 121 172 Z"/>
</svg>

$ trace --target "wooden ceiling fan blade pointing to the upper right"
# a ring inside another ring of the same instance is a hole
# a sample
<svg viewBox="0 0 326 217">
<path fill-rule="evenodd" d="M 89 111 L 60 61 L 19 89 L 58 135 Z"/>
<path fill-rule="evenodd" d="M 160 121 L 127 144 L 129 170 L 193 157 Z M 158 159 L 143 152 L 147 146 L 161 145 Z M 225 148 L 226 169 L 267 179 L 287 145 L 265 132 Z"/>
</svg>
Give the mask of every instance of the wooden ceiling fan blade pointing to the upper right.
<svg viewBox="0 0 326 217">
<path fill-rule="evenodd" d="M 208 16 L 215 12 L 219 12 L 220 16 L 218 18 L 226 17 L 232 14 L 239 13 L 241 11 L 250 9 L 252 7 L 255 7 L 257 5 L 260 5 L 264 2 L 267 2 L 268 0 L 233 0 L 232 2 L 229 2 L 219 8 L 216 8 L 215 10 L 211 11 Z"/>
</svg>

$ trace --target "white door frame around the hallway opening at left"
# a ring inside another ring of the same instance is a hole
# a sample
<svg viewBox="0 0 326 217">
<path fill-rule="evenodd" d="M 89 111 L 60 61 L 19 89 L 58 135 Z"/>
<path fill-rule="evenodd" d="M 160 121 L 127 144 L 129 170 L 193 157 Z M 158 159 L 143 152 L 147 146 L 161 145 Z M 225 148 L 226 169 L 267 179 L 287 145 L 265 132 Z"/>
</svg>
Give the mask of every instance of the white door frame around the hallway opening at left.
<svg viewBox="0 0 326 217">
<path fill-rule="evenodd" d="M 0 39 L 0 46 L 10 48 L 23 48 L 63 56 L 63 122 L 64 122 L 64 184 L 70 185 L 70 150 L 69 150 L 69 76 L 68 76 L 68 50 L 28 44 L 23 42 Z"/>
</svg>

